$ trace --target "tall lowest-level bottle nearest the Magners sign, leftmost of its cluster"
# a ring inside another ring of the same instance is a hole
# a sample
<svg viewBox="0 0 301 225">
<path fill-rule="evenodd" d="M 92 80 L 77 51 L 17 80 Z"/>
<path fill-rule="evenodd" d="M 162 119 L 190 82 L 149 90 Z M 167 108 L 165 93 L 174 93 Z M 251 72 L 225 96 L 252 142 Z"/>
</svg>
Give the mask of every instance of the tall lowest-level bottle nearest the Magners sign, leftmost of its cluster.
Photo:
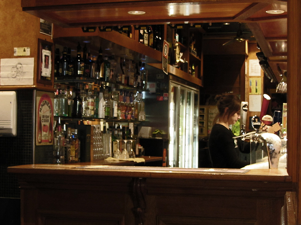
<svg viewBox="0 0 301 225">
<path fill-rule="evenodd" d="M 58 118 L 57 131 L 54 135 L 53 144 L 53 156 L 54 164 L 64 164 L 65 163 L 65 135 L 62 132 L 61 118 Z"/>
</svg>

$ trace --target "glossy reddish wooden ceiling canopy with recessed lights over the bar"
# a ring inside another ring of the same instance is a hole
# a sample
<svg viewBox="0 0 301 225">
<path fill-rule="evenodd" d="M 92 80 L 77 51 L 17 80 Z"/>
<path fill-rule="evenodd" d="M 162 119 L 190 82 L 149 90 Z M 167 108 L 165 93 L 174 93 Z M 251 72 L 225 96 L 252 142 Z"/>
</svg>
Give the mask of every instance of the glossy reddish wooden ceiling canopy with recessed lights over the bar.
<svg viewBox="0 0 301 225">
<path fill-rule="evenodd" d="M 242 22 L 270 67 L 287 70 L 287 0 L 22 0 L 23 11 L 62 27 Z M 128 11 L 144 11 L 130 15 Z M 284 10 L 268 14 L 267 10 Z M 279 81 L 279 80 L 278 80 Z"/>
</svg>

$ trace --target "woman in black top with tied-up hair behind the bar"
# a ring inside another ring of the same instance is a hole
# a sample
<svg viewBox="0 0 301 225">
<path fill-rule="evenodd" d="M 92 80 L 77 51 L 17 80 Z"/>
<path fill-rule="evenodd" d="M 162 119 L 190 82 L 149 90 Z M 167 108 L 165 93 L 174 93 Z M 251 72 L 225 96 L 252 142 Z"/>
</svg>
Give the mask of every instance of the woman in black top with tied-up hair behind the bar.
<svg viewBox="0 0 301 225">
<path fill-rule="evenodd" d="M 242 168 L 248 162 L 241 161 L 239 151 L 243 152 L 242 141 L 235 137 L 229 126 L 240 119 L 241 101 L 237 95 L 224 94 L 217 98 L 219 113 L 213 121 L 213 128 L 209 135 L 208 147 L 211 155 L 213 168 Z M 250 147 L 245 148 L 250 152 Z"/>
</svg>

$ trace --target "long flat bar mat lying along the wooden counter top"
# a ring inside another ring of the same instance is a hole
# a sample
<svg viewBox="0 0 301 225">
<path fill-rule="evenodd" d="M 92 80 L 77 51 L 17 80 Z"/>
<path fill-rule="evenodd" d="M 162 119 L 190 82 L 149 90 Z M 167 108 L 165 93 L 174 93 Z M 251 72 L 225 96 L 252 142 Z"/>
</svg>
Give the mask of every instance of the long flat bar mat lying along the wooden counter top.
<svg viewBox="0 0 301 225">
<path fill-rule="evenodd" d="M 242 169 L 215 169 L 215 168 L 178 168 L 178 167 L 135 167 L 135 166 L 108 166 L 88 165 L 75 167 L 77 169 L 99 169 L 99 170 L 134 170 L 134 171 L 156 171 L 156 172 L 199 172 L 199 173 L 247 173 L 250 170 Z"/>
</svg>

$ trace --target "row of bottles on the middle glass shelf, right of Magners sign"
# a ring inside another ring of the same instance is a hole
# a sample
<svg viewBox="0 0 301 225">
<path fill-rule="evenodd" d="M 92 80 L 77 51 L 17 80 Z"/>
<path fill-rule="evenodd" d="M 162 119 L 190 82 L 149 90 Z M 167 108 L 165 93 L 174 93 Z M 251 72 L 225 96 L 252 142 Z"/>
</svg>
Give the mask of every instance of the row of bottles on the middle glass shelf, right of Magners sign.
<svg viewBox="0 0 301 225">
<path fill-rule="evenodd" d="M 54 116 L 144 121 L 142 97 L 141 92 L 103 85 L 93 90 L 91 84 L 78 85 L 73 91 L 61 85 L 54 95 Z"/>
</svg>

